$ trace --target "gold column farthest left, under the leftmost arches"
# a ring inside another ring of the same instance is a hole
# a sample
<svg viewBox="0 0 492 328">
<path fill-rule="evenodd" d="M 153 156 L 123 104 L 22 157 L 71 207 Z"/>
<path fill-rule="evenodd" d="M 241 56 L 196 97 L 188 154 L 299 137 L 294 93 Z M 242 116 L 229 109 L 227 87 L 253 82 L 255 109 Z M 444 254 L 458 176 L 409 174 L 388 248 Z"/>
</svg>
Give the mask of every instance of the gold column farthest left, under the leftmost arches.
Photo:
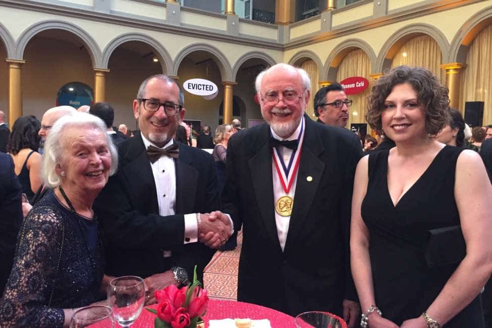
<svg viewBox="0 0 492 328">
<path fill-rule="evenodd" d="M 9 124 L 22 116 L 22 65 L 24 60 L 6 59 L 9 64 Z"/>
</svg>

